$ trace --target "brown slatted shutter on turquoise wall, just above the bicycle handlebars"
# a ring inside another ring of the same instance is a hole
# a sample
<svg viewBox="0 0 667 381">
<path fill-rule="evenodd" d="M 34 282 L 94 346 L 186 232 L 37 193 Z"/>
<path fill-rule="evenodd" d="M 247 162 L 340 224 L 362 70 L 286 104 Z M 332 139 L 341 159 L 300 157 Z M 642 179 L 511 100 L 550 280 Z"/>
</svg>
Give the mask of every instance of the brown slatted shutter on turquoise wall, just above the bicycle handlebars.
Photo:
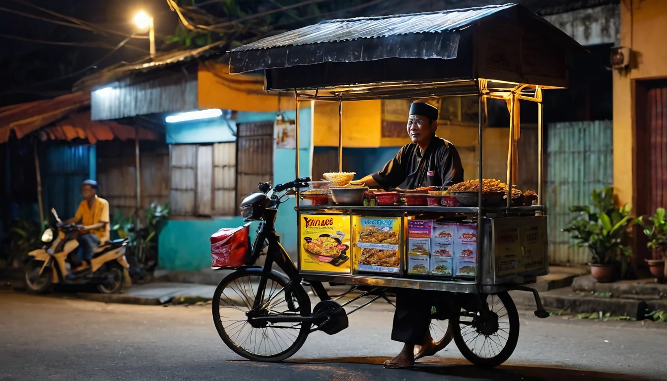
<svg viewBox="0 0 667 381">
<path fill-rule="evenodd" d="M 237 128 L 237 200 L 259 192 L 257 184 L 273 179 L 273 122 L 244 123 Z"/>
</svg>

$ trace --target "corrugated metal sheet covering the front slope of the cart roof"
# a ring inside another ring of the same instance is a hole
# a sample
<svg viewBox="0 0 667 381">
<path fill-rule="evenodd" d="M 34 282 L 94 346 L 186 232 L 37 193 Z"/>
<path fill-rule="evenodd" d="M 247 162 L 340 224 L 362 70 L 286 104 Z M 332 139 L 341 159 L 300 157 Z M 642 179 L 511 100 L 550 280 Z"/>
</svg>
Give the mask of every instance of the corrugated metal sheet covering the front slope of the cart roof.
<svg viewBox="0 0 667 381">
<path fill-rule="evenodd" d="M 230 72 L 390 57 L 456 58 L 459 31 L 514 6 L 322 21 L 231 50 Z"/>
</svg>

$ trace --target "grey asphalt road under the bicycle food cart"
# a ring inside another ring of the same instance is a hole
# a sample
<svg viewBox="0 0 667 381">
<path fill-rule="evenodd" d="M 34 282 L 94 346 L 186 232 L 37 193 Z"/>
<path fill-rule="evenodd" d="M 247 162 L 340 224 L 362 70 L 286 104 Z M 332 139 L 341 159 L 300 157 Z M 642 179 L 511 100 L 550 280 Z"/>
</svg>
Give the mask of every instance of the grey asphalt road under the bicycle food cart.
<svg viewBox="0 0 667 381">
<path fill-rule="evenodd" d="M 0 380 L 667 380 L 667 324 L 592 322 L 521 314 L 516 351 L 481 370 L 456 346 L 412 370 L 385 370 L 398 353 L 392 308 L 376 304 L 336 336 L 316 332 L 289 362 L 236 356 L 210 306 L 131 306 L 0 291 Z"/>
</svg>

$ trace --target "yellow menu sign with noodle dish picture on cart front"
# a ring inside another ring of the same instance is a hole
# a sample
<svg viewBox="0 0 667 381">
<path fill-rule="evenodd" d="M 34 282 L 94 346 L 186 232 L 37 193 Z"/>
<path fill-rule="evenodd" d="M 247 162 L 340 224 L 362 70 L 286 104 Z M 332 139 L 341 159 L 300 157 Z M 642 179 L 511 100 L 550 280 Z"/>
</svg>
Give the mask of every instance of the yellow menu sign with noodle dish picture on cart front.
<svg viewBox="0 0 667 381">
<path fill-rule="evenodd" d="M 301 270 L 350 274 L 350 216 L 301 215 Z"/>
</svg>

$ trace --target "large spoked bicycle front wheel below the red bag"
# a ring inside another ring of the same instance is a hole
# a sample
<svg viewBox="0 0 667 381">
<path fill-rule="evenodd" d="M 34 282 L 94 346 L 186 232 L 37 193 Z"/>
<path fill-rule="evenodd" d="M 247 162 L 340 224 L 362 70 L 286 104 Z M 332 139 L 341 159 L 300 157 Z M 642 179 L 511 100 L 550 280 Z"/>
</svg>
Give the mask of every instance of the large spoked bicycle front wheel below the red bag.
<svg viewBox="0 0 667 381">
<path fill-rule="evenodd" d="M 229 349 L 249 360 L 277 362 L 303 346 L 310 323 L 250 321 L 261 316 L 310 316 L 305 290 L 300 284 L 286 290 L 288 283 L 283 276 L 261 269 L 239 270 L 220 282 L 213 294 L 213 322 Z"/>
</svg>

